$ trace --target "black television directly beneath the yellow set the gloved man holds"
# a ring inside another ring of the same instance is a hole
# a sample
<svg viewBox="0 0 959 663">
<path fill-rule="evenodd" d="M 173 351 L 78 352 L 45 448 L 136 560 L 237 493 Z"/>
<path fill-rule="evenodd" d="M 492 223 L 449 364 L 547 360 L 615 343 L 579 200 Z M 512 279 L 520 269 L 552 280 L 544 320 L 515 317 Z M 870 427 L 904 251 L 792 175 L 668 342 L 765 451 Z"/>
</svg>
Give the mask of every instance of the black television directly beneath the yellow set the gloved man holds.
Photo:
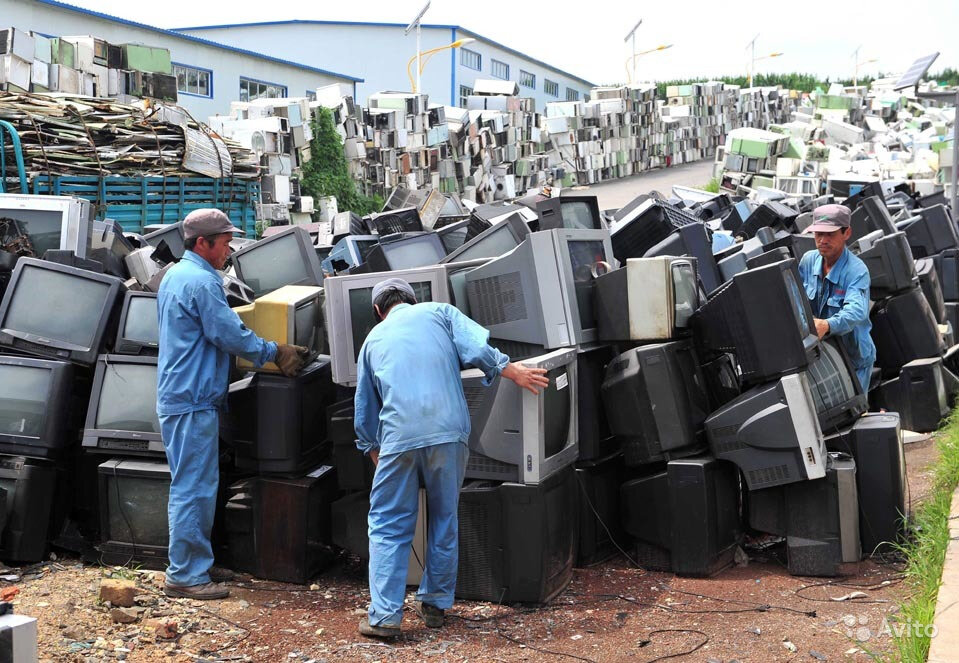
<svg viewBox="0 0 959 663">
<path fill-rule="evenodd" d="M 293 377 L 254 373 L 230 385 L 221 437 L 232 444 L 238 468 L 294 475 L 316 467 L 328 451 L 326 407 L 335 399 L 326 355 Z"/>
</svg>

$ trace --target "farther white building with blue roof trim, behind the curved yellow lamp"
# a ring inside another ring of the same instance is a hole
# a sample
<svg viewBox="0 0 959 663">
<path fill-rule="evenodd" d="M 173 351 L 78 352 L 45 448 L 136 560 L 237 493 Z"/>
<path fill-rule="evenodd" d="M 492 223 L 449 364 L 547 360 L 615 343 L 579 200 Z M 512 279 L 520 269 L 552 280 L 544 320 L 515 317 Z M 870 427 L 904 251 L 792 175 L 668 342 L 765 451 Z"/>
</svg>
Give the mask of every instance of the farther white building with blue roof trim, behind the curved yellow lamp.
<svg viewBox="0 0 959 663">
<path fill-rule="evenodd" d="M 353 72 L 363 78 L 356 90 L 357 101 L 365 106 L 376 92 L 412 90 L 407 63 L 416 54 L 416 32 L 406 35 L 405 28 L 399 23 L 271 21 L 178 28 L 177 32 L 313 67 Z M 538 111 L 550 101 L 585 99 L 593 87 L 587 80 L 458 25 L 423 24 L 420 49 L 464 38 L 474 41 L 437 52 L 423 69 L 421 91 L 433 103 L 465 107 L 465 97 L 472 94 L 477 79 L 517 83 L 520 96 L 536 99 Z M 415 64 L 411 70 L 415 78 Z"/>
</svg>

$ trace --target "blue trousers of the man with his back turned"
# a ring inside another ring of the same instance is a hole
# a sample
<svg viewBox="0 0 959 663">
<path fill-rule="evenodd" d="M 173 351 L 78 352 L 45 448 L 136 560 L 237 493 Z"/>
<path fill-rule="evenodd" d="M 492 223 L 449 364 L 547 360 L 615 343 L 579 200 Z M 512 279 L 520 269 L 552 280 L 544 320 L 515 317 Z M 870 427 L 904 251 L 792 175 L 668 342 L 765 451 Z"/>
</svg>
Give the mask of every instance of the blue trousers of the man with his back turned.
<svg viewBox="0 0 959 663">
<path fill-rule="evenodd" d="M 419 489 L 426 489 L 427 550 L 418 601 L 453 607 L 459 563 L 457 508 L 469 447 L 436 444 L 380 456 L 370 492 L 370 624 L 403 619 L 406 571 L 416 530 Z"/>
</svg>

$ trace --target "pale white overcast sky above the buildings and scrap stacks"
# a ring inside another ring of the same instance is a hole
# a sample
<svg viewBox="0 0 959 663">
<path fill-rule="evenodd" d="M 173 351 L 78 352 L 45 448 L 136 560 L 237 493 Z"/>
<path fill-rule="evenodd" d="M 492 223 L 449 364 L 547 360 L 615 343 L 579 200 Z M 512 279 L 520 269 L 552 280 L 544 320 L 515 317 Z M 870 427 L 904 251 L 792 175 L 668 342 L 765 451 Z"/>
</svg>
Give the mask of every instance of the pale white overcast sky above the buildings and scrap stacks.
<svg viewBox="0 0 959 663">
<path fill-rule="evenodd" d="M 171 28 L 285 19 L 408 23 L 424 0 L 163 0 L 120 4 L 115 0 L 73 0 L 73 4 Z M 741 11 L 737 11 L 739 7 Z M 831 78 L 851 77 L 852 53 L 859 45 L 860 62 L 878 59 L 863 65 L 862 74 L 875 74 L 877 68 L 899 72 L 933 51 L 940 52 L 933 71 L 959 68 L 959 0 L 433 0 L 424 23 L 461 25 L 602 84 L 625 80 L 624 61 L 629 49 L 623 38 L 639 19 L 643 19 L 643 24 L 637 32 L 637 51 L 673 44 L 667 51 L 639 58 L 638 78 L 643 80 L 745 73 L 746 45 L 757 33 L 757 57 L 775 51 L 783 53 L 757 62 L 757 72 L 799 71 Z"/>
</svg>

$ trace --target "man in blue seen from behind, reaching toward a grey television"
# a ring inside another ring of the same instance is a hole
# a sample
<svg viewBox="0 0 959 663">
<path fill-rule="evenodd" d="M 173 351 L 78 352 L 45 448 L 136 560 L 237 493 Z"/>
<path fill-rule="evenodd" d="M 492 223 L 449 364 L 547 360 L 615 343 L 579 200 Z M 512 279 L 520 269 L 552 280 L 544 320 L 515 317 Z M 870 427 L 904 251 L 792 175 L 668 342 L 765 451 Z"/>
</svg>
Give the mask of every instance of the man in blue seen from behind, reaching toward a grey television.
<svg viewBox="0 0 959 663">
<path fill-rule="evenodd" d="M 426 568 L 414 611 L 427 626 L 444 624 L 458 564 L 457 508 L 469 456 L 469 411 L 460 370 L 480 369 L 533 393 L 546 371 L 511 363 L 488 344 L 489 332 L 449 304 L 416 303 L 413 288 L 387 279 L 373 288 L 379 324 L 357 362 L 357 447 L 376 464 L 370 492 L 370 608 L 360 633 L 400 633 L 406 571 L 420 487 L 426 489 Z"/>
</svg>

